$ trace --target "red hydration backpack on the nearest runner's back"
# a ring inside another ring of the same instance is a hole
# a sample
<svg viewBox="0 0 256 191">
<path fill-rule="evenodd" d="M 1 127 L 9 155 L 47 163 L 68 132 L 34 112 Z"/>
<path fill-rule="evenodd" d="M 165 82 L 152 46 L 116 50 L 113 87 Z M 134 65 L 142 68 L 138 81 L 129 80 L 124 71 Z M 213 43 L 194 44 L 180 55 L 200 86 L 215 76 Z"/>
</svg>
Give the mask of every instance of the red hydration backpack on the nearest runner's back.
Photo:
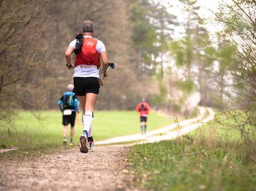
<svg viewBox="0 0 256 191">
<path fill-rule="evenodd" d="M 83 38 L 81 51 L 75 55 L 75 66 L 81 64 L 101 66 L 100 54 L 96 50 L 97 42 L 97 38 Z"/>
</svg>

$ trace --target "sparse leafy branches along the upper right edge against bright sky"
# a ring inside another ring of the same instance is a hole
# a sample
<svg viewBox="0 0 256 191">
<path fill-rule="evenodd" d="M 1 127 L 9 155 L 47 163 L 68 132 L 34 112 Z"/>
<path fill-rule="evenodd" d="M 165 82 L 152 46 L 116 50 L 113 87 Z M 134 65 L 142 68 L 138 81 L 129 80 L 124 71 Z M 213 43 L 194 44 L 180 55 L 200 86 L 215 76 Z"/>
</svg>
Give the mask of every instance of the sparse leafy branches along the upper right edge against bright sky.
<svg viewBox="0 0 256 191">
<path fill-rule="evenodd" d="M 256 109 L 254 104 L 256 102 L 255 7 L 255 1 L 232 0 L 232 4 L 220 7 L 219 12 L 216 13 L 217 21 L 224 25 L 224 30 L 219 32 L 219 36 L 227 36 L 229 41 L 239 47 L 238 62 L 230 69 L 236 88 L 233 93 L 234 100 L 251 111 Z"/>
</svg>

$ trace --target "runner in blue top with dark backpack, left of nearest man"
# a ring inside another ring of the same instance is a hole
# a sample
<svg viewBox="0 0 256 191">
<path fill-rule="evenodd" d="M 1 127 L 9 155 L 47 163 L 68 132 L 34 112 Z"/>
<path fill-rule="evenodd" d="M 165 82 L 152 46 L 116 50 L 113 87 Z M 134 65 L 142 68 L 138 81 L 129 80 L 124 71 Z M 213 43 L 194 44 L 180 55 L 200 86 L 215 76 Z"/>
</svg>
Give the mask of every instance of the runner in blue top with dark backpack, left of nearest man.
<svg viewBox="0 0 256 191">
<path fill-rule="evenodd" d="M 74 89 L 73 83 L 67 85 L 67 91 L 64 92 L 63 96 L 60 98 L 58 105 L 63 113 L 62 115 L 62 125 L 63 127 L 63 145 L 67 145 L 67 126 L 70 123 L 70 142 L 69 145 L 73 145 L 74 139 L 74 121 L 75 112 L 79 112 L 79 102 L 77 96 L 72 92 Z"/>
</svg>

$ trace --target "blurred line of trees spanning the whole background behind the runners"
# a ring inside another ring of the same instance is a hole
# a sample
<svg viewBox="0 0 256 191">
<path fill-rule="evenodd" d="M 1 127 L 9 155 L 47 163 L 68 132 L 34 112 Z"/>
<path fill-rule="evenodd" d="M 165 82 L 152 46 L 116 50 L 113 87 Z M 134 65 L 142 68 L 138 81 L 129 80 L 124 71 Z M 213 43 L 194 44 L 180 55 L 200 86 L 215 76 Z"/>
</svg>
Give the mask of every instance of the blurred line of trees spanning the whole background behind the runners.
<svg viewBox="0 0 256 191">
<path fill-rule="evenodd" d="M 160 0 L 0 0 L 0 120 L 13 108 L 55 109 L 73 82 L 64 52 L 81 23 L 92 20 L 116 68 L 100 89 L 97 109 L 134 109 L 141 97 L 182 112 L 193 92 L 202 105 L 226 100 L 255 110 L 255 1 L 221 5 L 224 26 L 212 41 L 197 0 L 177 0 L 181 22 Z M 174 38 L 176 26 L 184 29 Z"/>
</svg>

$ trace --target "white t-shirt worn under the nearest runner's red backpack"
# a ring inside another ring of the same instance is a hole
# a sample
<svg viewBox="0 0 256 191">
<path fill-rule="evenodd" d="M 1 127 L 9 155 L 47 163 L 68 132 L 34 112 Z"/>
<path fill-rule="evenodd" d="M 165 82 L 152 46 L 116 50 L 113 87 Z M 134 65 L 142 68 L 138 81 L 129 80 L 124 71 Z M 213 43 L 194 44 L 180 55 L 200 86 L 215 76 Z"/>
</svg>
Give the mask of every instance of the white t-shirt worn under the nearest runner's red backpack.
<svg viewBox="0 0 256 191">
<path fill-rule="evenodd" d="M 84 36 L 84 38 L 92 38 L 91 36 Z M 69 46 L 75 48 L 76 39 L 71 41 Z M 98 40 L 96 44 L 96 51 L 100 54 L 102 51 L 106 52 L 105 45 Z M 74 68 L 74 77 L 100 77 L 99 69 L 97 68 L 81 68 L 79 65 Z"/>
</svg>

